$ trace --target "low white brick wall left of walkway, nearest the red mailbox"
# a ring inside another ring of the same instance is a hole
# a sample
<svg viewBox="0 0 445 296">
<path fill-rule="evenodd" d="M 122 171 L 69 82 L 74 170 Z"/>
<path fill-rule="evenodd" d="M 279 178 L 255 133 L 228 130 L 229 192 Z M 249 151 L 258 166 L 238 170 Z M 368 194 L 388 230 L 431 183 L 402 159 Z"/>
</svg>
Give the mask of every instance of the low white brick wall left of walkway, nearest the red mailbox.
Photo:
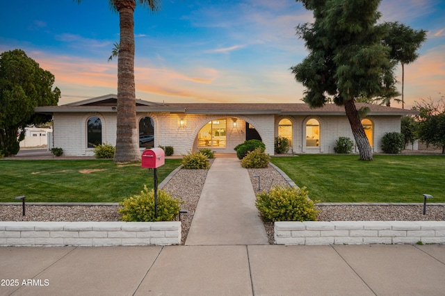
<svg viewBox="0 0 445 296">
<path fill-rule="evenodd" d="M 0 246 L 179 245 L 181 222 L 1 222 Z"/>
</svg>

